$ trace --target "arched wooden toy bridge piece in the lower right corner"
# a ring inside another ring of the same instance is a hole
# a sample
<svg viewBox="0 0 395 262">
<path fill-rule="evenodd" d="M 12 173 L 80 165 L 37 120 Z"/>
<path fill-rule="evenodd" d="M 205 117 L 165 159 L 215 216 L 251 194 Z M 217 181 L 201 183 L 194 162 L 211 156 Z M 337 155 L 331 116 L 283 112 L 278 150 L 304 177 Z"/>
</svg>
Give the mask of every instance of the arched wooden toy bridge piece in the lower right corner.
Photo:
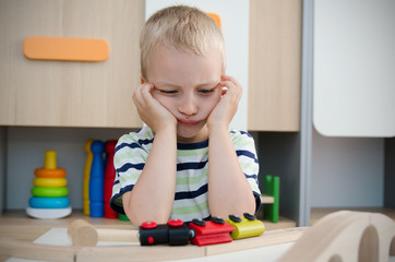
<svg viewBox="0 0 395 262">
<path fill-rule="evenodd" d="M 390 217 L 338 211 L 308 228 L 278 261 L 388 261 L 394 239 Z"/>
</svg>

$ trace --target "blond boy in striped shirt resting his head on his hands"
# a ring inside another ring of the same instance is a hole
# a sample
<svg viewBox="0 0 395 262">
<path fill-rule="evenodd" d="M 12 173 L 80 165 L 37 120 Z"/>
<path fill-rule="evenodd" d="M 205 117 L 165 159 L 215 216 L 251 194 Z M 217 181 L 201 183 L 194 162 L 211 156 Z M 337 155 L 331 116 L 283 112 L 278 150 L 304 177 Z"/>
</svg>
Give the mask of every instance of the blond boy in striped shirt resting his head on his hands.
<svg viewBox="0 0 395 262">
<path fill-rule="evenodd" d="M 259 165 L 252 138 L 229 132 L 242 87 L 225 75 L 219 27 L 170 7 L 149 17 L 140 47 L 133 100 L 145 124 L 118 141 L 111 207 L 134 225 L 254 213 Z"/>
</svg>

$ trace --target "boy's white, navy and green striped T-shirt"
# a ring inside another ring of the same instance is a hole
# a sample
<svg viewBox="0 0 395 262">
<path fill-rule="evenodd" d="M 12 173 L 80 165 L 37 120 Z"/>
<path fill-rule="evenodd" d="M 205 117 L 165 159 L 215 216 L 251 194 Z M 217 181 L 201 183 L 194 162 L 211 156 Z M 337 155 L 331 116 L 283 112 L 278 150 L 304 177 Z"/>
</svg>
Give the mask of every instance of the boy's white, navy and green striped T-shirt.
<svg viewBox="0 0 395 262">
<path fill-rule="evenodd" d="M 256 210 L 261 204 L 258 183 L 259 163 L 252 136 L 242 131 L 230 131 L 240 166 L 255 195 Z M 116 180 L 110 206 L 124 214 L 122 194 L 133 189 L 142 172 L 154 141 L 154 133 L 144 126 L 137 132 L 122 135 L 116 146 L 113 165 Z M 190 222 L 210 218 L 208 210 L 208 140 L 177 144 L 177 182 L 170 218 Z"/>
</svg>

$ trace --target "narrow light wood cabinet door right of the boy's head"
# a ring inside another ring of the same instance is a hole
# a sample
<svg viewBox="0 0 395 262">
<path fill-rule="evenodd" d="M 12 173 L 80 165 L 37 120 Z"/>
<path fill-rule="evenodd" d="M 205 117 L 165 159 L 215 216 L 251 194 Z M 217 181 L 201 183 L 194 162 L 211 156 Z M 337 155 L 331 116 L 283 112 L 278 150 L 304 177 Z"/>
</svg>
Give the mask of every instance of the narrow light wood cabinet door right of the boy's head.
<svg viewBox="0 0 395 262">
<path fill-rule="evenodd" d="M 301 0 L 250 1 L 249 130 L 299 130 L 301 17 Z"/>
</svg>

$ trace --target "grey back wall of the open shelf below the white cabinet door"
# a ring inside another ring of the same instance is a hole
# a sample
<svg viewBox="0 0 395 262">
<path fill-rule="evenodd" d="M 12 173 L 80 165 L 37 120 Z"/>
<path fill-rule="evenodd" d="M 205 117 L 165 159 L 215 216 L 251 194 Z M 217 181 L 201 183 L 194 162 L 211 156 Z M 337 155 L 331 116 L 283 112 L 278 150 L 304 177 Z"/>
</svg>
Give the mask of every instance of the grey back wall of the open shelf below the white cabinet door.
<svg viewBox="0 0 395 262">
<path fill-rule="evenodd" d="M 384 204 L 384 140 L 327 138 L 313 131 L 312 207 Z"/>
</svg>

